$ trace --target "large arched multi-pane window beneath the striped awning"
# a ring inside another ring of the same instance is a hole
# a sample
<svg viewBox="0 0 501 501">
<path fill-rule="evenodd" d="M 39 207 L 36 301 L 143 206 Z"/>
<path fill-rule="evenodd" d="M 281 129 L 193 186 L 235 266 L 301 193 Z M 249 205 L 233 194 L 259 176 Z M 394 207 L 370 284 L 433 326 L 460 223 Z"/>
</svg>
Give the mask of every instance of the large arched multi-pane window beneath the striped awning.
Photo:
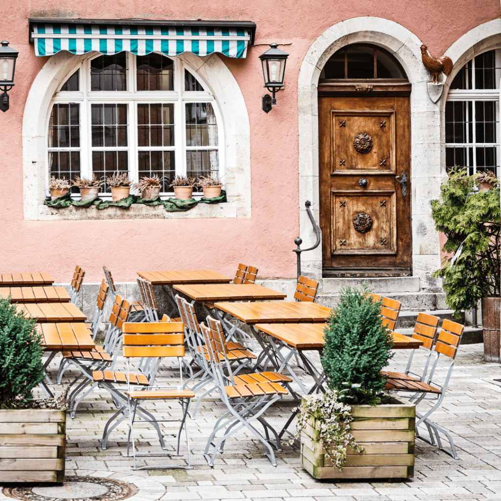
<svg viewBox="0 0 501 501">
<path fill-rule="evenodd" d="M 136 181 L 158 175 L 165 194 L 176 175 L 222 174 L 220 123 L 214 97 L 181 59 L 90 57 L 54 94 L 48 179 L 128 171 Z"/>
</svg>

